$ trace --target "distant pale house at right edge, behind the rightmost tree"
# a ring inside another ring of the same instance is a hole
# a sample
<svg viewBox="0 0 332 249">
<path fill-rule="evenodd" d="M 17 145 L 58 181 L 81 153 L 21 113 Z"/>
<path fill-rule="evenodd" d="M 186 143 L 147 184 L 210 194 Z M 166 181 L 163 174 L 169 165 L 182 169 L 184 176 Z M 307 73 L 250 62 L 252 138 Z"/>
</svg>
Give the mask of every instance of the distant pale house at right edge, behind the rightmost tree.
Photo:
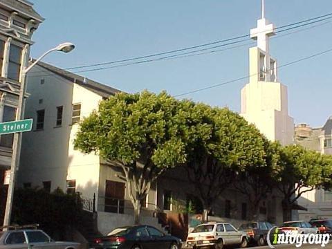
<svg viewBox="0 0 332 249">
<path fill-rule="evenodd" d="M 332 154 L 332 116 L 323 127 L 311 128 L 307 124 L 295 127 L 295 142 L 322 154 Z M 299 204 L 308 209 L 299 211 L 300 219 L 332 218 L 332 192 L 313 190 L 300 197 Z"/>
</svg>

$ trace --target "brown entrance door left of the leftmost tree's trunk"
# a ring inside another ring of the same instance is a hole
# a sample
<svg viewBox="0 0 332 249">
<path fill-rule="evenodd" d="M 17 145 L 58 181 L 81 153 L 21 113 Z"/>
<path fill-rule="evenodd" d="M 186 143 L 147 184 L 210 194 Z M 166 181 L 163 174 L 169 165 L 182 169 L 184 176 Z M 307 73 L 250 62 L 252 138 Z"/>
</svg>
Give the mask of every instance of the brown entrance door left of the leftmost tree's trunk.
<svg viewBox="0 0 332 249">
<path fill-rule="evenodd" d="M 105 212 L 124 213 L 124 183 L 106 180 Z"/>
</svg>

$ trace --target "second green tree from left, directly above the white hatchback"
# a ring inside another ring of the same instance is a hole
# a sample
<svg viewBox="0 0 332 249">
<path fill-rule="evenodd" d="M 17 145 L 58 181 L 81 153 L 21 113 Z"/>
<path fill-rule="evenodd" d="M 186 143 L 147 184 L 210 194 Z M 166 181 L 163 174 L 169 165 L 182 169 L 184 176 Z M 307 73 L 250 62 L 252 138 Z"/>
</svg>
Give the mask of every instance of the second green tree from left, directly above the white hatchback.
<svg viewBox="0 0 332 249">
<path fill-rule="evenodd" d="M 255 127 L 226 108 L 191 104 L 186 113 L 190 126 L 187 175 L 207 221 L 212 205 L 235 176 L 248 165 L 264 164 L 264 139 Z"/>
</svg>

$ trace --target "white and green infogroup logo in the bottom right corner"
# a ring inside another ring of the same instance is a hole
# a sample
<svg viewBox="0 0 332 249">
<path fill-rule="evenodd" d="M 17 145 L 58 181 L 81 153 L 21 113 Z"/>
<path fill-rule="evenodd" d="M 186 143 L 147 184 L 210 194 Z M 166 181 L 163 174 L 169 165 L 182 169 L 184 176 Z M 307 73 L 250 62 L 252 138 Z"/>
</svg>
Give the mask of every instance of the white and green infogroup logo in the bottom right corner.
<svg viewBox="0 0 332 249">
<path fill-rule="evenodd" d="M 268 231 L 266 241 L 270 248 L 274 245 L 291 244 L 298 248 L 303 244 L 315 244 L 322 247 L 326 246 L 330 241 L 331 234 L 296 234 L 294 232 L 283 232 L 277 227 L 273 227 Z"/>
</svg>

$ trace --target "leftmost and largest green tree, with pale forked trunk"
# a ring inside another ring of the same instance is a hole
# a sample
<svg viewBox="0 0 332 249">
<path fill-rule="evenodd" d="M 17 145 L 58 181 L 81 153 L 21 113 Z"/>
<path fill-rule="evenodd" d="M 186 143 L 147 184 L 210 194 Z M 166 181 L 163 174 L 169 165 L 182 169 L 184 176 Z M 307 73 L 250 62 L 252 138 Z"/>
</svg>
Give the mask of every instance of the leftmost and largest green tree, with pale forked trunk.
<svg viewBox="0 0 332 249">
<path fill-rule="evenodd" d="M 139 223 L 141 201 L 165 170 L 185 163 L 186 127 L 181 102 L 158 95 L 118 93 L 80 124 L 75 148 L 95 152 L 122 169 Z"/>
</svg>

